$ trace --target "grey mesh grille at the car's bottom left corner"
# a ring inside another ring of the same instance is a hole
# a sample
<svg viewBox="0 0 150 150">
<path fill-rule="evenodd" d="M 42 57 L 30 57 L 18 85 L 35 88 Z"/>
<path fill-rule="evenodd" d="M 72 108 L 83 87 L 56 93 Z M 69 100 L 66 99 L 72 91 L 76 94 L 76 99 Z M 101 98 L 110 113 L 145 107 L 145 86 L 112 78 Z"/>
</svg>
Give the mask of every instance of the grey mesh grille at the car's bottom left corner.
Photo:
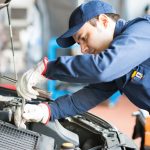
<svg viewBox="0 0 150 150">
<path fill-rule="evenodd" d="M 35 150 L 40 134 L 0 121 L 0 150 Z"/>
</svg>

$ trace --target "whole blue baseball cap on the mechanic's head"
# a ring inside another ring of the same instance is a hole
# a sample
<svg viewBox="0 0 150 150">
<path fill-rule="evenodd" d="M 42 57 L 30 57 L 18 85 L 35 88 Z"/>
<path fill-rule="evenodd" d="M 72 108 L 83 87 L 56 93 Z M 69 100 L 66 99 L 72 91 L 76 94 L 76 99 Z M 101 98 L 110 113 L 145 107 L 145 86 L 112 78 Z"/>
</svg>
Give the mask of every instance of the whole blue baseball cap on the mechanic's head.
<svg viewBox="0 0 150 150">
<path fill-rule="evenodd" d="M 106 13 L 116 13 L 115 9 L 101 0 L 90 0 L 78 6 L 69 18 L 69 29 L 56 42 L 60 47 L 66 48 L 75 44 L 73 35 L 90 19 Z"/>
</svg>

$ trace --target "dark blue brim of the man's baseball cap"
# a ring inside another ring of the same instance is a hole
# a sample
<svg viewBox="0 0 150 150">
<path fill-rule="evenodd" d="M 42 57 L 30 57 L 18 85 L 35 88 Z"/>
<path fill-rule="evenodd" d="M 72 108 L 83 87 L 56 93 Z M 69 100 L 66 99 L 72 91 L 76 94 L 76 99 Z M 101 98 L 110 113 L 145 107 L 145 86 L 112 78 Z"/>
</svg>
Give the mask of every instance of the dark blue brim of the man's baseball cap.
<svg viewBox="0 0 150 150">
<path fill-rule="evenodd" d="M 73 35 L 84 25 L 84 23 L 81 23 L 77 26 L 74 26 L 73 28 L 70 28 L 67 32 L 65 32 L 63 35 L 61 35 L 59 38 L 57 38 L 56 42 L 60 47 L 66 48 L 73 44 L 75 44 L 75 40 L 73 39 Z"/>
</svg>

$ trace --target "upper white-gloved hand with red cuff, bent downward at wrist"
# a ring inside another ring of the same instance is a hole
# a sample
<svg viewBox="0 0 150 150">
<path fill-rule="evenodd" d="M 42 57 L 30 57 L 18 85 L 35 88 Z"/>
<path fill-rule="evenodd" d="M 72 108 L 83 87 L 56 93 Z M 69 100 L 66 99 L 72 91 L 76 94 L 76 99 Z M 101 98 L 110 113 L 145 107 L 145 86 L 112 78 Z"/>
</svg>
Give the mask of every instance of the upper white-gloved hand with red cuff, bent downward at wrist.
<svg viewBox="0 0 150 150">
<path fill-rule="evenodd" d="M 23 76 L 17 81 L 16 88 L 19 96 L 22 96 L 26 100 L 36 99 L 39 93 L 33 89 L 37 83 L 43 79 L 43 75 L 47 69 L 47 58 L 38 63 L 38 65 L 23 74 Z"/>
</svg>

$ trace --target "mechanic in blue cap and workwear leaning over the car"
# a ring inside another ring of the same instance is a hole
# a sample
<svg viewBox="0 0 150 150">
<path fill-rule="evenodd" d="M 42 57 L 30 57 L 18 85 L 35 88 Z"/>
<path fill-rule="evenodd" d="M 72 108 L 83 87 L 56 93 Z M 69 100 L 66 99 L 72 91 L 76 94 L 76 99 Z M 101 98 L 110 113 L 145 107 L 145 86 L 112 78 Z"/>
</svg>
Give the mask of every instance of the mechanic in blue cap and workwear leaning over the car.
<svg viewBox="0 0 150 150">
<path fill-rule="evenodd" d="M 88 85 L 50 105 L 26 104 L 23 118 L 27 122 L 47 123 L 81 114 L 117 90 L 150 111 L 149 15 L 126 22 L 108 3 L 91 0 L 73 11 L 69 29 L 57 43 L 63 48 L 78 43 L 84 55 L 61 56 L 49 62 L 43 59 L 18 80 L 18 94 L 36 99 L 38 92 L 32 87 L 43 77 Z"/>
</svg>

